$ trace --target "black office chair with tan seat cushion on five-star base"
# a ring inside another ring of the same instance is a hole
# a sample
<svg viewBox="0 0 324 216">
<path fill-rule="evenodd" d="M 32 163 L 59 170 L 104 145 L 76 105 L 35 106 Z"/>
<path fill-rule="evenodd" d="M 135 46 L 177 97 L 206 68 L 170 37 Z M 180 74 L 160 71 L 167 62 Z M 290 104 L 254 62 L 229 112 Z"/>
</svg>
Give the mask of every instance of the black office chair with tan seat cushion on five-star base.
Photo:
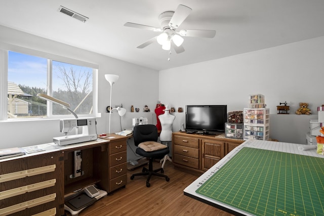
<svg viewBox="0 0 324 216">
<path fill-rule="evenodd" d="M 133 174 L 131 176 L 131 180 L 134 179 L 135 176 L 146 176 L 146 187 L 150 187 L 150 178 L 151 176 L 159 176 L 166 178 L 166 181 L 169 182 L 170 179 L 168 176 L 163 175 L 164 169 L 158 168 L 153 170 L 153 160 L 164 158 L 166 154 L 169 153 L 169 148 L 166 145 L 157 143 L 157 128 L 153 124 L 140 124 L 136 125 L 133 130 L 133 137 L 136 149 L 136 153 L 149 158 L 148 169 L 143 167 L 142 172 Z M 158 173 L 161 171 L 161 174 Z"/>
</svg>

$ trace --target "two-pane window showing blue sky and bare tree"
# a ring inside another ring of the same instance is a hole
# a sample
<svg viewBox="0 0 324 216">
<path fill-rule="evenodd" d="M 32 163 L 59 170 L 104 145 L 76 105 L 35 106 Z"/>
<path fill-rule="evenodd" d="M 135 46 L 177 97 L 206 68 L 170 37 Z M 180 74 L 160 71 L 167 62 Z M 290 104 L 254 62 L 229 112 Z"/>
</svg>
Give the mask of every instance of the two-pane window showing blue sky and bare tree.
<svg viewBox="0 0 324 216">
<path fill-rule="evenodd" d="M 7 55 L 7 115 L 2 115 L 5 118 L 72 117 L 62 106 L 37 97 L 38 93 L 69 103 L 78 116 L 96 114 L 94 80 L 97 69 L 76 60 L 65 61 L 62 57 L 57 61 L 12 51 Z"/>
</svg>

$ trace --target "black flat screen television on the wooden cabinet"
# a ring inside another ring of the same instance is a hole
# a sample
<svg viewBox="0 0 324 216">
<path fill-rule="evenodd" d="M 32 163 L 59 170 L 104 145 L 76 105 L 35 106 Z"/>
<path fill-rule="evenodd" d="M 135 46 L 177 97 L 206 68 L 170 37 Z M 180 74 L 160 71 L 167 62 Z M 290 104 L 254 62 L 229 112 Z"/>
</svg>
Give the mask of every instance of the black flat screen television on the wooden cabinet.
<svg viewBox="0 0 324 216">
<path fill-rule="evenodd" d="M 226 121 L 227 105 L 186 106 L 186 131 L 224 132 Z"/>
</svg>

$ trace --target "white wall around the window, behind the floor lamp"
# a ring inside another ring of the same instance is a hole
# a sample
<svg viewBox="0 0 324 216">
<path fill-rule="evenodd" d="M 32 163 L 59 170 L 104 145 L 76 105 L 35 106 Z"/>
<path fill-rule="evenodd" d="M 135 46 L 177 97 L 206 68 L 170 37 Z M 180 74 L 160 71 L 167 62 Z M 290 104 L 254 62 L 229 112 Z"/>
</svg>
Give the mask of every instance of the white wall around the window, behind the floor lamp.
<svg viewBox="0 0 324 216">
<path fill-rule="evenodd" d="M 0 26 L 0 32 L 0 49 L 19 46 L 99 65 L 98 111 L 102 115 L 96 119 L 98 134 L 107 133 L 109 130 L 106 107 L 109 105 L 110 85 L 104 74 L 119 75 L 119 80 L 112 88 L 113 106 L 123 104 L 130 111 L 131 105 L 134 105 L 140 108 L 140 113 L 137 113 L 140 117 L 145 105 L 154 111 L 158 100 L 158 71 L 4 26 Z M 131 115 L 129 118 L 127 116 L 128 113 L 122 117 L 124 125 L 132 122 Z M 112 118 L 111 133 L 120 131 L 119 125 L 119 118 Z M 50 143 L 53 142 L 53 137 L 58 136 L 63 136 L 60 133 L 59 119 L 0 122 L 0 149 Z"/>
</svg>

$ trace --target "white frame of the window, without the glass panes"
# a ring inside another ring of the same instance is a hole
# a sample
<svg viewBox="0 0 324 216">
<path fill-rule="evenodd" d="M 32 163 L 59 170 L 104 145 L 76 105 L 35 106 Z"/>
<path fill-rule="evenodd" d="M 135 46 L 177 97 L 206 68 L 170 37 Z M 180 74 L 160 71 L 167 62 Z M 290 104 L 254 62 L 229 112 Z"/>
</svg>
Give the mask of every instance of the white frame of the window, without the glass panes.
<svg viewBox="0 0 324 216">
<path fill-rule="evenodd" d="M 47 94 L 52 96 L 52 61 L 64 62 L 67 64 L 73 64 L 78 66 L 92 68 L 92 94 L 93 94 L 93 109 L 92 114 L 77 114 L 78 117 L 100 117 L 98 113 L 98 69 L 97 64 L 71 59 L 63 56 L 57 56 L 54 54 L 44 53 L 41 51 L 35 51 L 27 48 L 21 48 L 17 46 L 9 46 L 6 48 L 0 48 L 0 121 L 19 121 L 19 120 L 36 120 L 36 119 L 57 119 L 57 118 L 74 118 L 72 114 L 66 115 L 53 115 L 52 114 L 52 102 L 47 101 L 47 117 L 34 117 L 34 118 L 8 118 L 8 61 L 9 51 L 17 52 L 25 55 L 36 56 L 47 59 Z"/>
</svg>

